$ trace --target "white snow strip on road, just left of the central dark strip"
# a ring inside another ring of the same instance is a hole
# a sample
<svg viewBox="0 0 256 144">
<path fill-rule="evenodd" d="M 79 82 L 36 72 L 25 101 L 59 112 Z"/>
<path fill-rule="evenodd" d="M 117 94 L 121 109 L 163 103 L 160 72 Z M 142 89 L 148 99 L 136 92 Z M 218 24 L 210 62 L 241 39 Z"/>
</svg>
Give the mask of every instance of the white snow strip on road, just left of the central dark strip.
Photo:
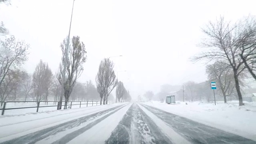
<svg viewBox="0 0 256 144">
<path fill-rule="evenodd" d="M 68 144 L 104 144 L 132 104 L 118 110 L 86 132 L 72 139 Z"/>
</svg>

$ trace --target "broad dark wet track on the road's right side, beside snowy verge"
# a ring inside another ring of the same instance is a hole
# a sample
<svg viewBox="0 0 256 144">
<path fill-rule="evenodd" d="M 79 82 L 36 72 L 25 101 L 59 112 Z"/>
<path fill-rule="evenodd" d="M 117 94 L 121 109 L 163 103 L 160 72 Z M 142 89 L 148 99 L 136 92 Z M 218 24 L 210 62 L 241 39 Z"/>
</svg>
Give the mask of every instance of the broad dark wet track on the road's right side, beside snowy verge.
<svg viewBox="0 0 256 144">
<path fill-rule="evenodd" d="M 242 136 L 224 132 L 152 106 L 141 105 L 194 144 L 256 144 L 255 141 Z"/>
</svg>

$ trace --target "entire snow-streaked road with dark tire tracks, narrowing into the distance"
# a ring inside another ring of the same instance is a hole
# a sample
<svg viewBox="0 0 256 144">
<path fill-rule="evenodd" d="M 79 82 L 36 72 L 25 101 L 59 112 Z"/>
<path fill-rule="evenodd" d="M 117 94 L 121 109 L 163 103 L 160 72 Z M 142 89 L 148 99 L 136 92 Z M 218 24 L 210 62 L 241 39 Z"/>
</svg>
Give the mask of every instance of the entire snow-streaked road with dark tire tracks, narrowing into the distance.
<svg viewBox="0 0 256 144">
<path fill-rule="evenodd" d="M 2 144 L 255 144 L 144 104 L 113 104 L 0 125 Z M 67 116 L 68 115 L 68 116 Z M 63 118 L 66 120 L 63 120 Z M 51 121 L 60 121 L 52 123 Z M 43 121 L 47 121 L 44 123 Z M 40 122 L 40 123 L 39 123 Z M 26 129 L 19 128 L 26 125 Z M 30 125 L 29 125 L 30 124 Z M 46 126 L 41 126 L 45 124 Z M 29 125 L 29 126 L 28 126 Z M 16 127 L 16 129 L 15 129 Z M 31 129 L 31 130 L 30 130 Z"/>
</svg>

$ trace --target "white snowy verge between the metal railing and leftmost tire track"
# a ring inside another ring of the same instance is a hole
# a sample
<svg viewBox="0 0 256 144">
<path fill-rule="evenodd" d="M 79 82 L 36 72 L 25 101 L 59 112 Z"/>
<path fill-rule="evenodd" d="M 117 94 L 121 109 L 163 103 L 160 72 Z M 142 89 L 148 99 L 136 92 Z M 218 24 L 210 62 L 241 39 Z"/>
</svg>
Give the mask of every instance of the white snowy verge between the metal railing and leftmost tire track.
<svg viewBox="0 0 256 144">
<path fill-rule="evenodd" d="M 38 130 L 62 124 L 102 110 L 123 105 L 124 103 L 78 108 L 36 115 L 12 116 L 0 118 L 0 142 L 24 136 Z"/>
</svg>

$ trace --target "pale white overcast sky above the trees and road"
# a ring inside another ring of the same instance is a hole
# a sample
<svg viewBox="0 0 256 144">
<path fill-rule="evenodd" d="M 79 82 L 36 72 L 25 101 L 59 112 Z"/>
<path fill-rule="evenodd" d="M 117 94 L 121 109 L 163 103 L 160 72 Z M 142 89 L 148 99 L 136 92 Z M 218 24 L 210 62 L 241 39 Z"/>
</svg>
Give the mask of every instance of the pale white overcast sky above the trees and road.
<svg viewBox="0 0 256 144">
<path fill-rule="evenodd" d="M 24 68 L 32 73 L 42 59 L 56 72 L 60 43 L 68 35 L 73 0 L 12 0 L 0 5 L 10 34 L 31 45 Z M 88 60 L 80 82 L 92 80 L 100 60 L 110 56 L 133 97 L 162 84 L 206 80 L 205 66 L 188 60 L 200 52 L 200 27 L 224 15 L 256 15 L 255 0 L 76 0 L 71 36 L 86 45 Z"/>
</svg>

